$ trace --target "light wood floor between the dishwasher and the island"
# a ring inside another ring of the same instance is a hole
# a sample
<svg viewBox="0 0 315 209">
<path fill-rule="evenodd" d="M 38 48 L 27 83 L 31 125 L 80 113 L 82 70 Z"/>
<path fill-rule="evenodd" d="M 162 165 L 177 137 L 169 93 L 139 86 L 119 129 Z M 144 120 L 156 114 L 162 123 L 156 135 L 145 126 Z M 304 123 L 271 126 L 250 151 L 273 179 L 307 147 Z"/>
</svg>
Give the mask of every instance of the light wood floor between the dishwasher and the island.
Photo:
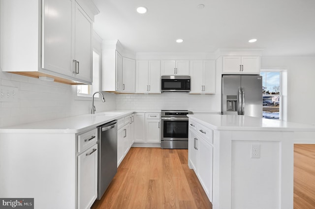
<svg viewBox="0 0 315 209">
<path fill-rule="evenodd" d="M 91 209 L 212 209 L 188 150 L 131 148 Z"/>
</svg>

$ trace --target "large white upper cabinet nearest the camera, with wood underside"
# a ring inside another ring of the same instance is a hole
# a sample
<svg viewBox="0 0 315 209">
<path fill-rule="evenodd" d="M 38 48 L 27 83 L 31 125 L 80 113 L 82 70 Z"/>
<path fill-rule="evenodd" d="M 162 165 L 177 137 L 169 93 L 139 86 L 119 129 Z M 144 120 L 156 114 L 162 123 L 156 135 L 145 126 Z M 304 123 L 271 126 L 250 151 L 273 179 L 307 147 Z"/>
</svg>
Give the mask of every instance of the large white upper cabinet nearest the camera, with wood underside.
<svg viewBox="0 0 315 209">
<path fill-rule="evenodd" d="M 92 83 L 92 1 L 84 10 L 75 0 L 9 0 L 0 9 L 10 20 L 0 26 L 2 71 Z"/>
</svg>

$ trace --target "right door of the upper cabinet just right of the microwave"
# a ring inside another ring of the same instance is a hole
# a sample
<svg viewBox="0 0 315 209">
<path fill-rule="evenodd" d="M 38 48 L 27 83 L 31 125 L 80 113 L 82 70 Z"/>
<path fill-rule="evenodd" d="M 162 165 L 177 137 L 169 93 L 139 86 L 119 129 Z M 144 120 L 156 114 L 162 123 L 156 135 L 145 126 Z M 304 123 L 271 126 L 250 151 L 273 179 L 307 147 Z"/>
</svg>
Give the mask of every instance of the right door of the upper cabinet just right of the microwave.
<svg viewBox="0 0 315 209">
<path fill-rule="evenodd" d="M 216 61 L 203 61 L 203 92 L 204 94 L 216 93 Z"/>
</svg>

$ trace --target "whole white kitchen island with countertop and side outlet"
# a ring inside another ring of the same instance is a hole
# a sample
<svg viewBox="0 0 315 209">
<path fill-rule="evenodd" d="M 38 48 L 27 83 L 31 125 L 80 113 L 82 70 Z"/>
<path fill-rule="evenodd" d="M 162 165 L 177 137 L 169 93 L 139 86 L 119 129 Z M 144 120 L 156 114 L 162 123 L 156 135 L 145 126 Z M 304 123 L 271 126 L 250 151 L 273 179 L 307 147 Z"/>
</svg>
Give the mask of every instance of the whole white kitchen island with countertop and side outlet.
<svg viewBox="0 0 315 209">
<path fill-rule="evenodd" d="M 294 144 L 315 127 L 238 115 L 189 115 L 189 167 L 213 209 L 293 209 Z"/>
</svg>

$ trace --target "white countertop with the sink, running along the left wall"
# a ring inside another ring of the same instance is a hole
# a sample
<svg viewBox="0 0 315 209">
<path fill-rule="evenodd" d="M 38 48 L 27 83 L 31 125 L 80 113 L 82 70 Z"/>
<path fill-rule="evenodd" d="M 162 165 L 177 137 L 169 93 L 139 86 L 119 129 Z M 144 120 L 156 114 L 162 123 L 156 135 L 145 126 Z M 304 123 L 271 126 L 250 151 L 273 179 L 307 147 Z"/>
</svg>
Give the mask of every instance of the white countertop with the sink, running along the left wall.
<svg viewBox="0 0 315 209">
<path fill-rule="evenodd" d="M 0 129 L 0 133 L 79 133 L 126 117 L 134 112 L 160 112 L 160 110 L 112 110 L 98 112 L 95 114 L 3 127 Z"/>
</svg>

